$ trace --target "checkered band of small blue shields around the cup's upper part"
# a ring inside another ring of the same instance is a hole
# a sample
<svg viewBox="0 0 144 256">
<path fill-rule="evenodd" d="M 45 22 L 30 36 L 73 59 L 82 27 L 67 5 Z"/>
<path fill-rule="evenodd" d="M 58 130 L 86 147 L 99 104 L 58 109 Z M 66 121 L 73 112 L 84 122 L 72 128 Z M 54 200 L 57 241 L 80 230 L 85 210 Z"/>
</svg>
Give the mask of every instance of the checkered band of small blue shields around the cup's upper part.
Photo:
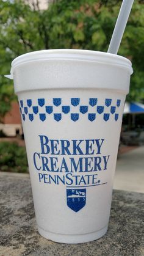
<svg viewBox="0 0 144 256">
<path fill-rule="evenodd" d="M 87 104 L 81 104 L 80 98 L 70 98 L 69 105 L 62 104 L 62 98 L 52 98 L 46 104 L 45 98 L 37 98 L 37 103 L 33 105 L 32 99 L 20 100 L 20 114 L 23 121 L 34 121 L 35 116 L 38 115 L 41 122 L 45 122 L 49 115 L 52 115 L 56 122 L 62 120 L 63 115 L 73 121 L 77 122 L 83 115 L 87 115 L 87 120 L 93 122 L 101 115 L 105 122 L 109 122 L 113 118 L 117 122 L 119 118 L 119 108 L 121 100 L 117 99 L 116 106 L 112 104 L 112 98 L 104 98 L 104 104 L 98 104 L 98 98 L 88 98 Z M 74 110 L 75 109 L 75 110 Z"/>
</svg>

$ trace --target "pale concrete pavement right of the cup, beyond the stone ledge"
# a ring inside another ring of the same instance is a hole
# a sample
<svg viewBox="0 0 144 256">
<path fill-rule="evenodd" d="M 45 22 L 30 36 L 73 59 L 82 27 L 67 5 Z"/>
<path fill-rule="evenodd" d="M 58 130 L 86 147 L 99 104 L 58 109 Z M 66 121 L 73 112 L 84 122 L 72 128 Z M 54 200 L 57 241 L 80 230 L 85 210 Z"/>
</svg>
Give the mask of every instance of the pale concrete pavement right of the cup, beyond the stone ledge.
<svg viewBox="0 0 144 256">
<path fill-rule="evenodd" d="M 113 188 L 144 193 L 144 146 L 118 157 Z"/>
</svg>

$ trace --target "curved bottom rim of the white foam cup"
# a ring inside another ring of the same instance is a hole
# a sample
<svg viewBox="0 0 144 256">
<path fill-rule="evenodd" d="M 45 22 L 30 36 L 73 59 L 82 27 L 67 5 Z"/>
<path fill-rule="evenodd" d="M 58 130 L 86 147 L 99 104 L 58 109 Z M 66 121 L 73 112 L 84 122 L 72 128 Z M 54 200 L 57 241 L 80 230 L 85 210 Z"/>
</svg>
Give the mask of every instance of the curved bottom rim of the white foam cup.
<svg viewBox="0 0 144 256">
<path fill-rule="evenodd" d="M 41 227 L 39 226 L 37 228 L 38 233 L 40 233 L 41 236 L 45 237 L 48 240 L 52 240 L 57 243 L 79 244 L 98 240 L 107 233 L 108 225 L 106 225 L 106 227 L 101 230 L 83 235 L 62 235 L 46 231 L 44 229 L 41 229 Z"/>
</svg>

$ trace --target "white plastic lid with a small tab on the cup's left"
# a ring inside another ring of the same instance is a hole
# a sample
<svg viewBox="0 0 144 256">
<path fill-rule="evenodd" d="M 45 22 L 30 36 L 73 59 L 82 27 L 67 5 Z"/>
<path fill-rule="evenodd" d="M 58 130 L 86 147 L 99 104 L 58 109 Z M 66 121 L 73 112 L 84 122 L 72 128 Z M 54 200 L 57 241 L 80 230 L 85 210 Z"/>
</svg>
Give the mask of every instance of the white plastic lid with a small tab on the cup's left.
<svg viewBox="0 0 144 256">
<path fill-rule="evenodd" d="M 29 62 L 43 61 L 43 60 L 84 60 L 89 62 L 97 62 L 101 64 L 118 65 L 127 68 L 130 74 L 133 73 L 132 64 L 129 59 L 118 56 L 116 54 L 104 53 L 100 51 L 88 51 L 83 49 L 48 49 L 41 51 L 34 51 L 16 57 L 12 61 L 10 75 L 6 77 L 13 79 L 13 71 L 15 67 Z"/>
</svg>

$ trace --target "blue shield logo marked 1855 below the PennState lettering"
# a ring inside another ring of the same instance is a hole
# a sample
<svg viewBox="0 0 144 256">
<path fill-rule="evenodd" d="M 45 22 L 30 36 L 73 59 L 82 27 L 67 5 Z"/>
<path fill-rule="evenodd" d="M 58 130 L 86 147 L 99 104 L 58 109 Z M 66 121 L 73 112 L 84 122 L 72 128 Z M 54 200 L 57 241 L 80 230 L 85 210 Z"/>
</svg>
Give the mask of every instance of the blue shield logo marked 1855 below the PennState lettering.
<svg viewBox="0 0 144 256">
<path fill-rule="evenodd" d="M 86 189 L 67 189 L 67 205 L 71 210 L 81 210 L 86 203 Z"/>
</svg>

